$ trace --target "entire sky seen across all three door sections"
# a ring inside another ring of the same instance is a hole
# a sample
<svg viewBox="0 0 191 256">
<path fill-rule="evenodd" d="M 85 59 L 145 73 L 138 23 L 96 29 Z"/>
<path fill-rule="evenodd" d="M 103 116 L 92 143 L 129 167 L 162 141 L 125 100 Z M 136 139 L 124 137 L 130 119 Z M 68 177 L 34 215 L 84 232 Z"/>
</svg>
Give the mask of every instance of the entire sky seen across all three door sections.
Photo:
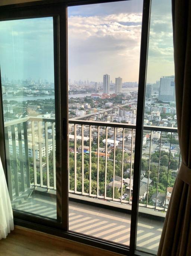
<svg viewBox="0 0 191 256">
<path fill-rule="evenodd" d="M 69 79 L 138 82 L 142 0 L 68 7 Z M 1 76 L 54 80 L 53 19 L 0 22 Z M 170 0 L 153 0 L 147 82 L 173 75 Z"/>
</svg>

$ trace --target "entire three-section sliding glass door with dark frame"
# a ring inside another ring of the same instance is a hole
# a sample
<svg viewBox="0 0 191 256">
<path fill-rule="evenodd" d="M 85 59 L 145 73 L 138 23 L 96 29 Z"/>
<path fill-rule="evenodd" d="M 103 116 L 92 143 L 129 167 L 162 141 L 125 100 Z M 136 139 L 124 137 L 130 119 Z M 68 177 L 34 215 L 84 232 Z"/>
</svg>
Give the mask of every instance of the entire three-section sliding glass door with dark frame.
<svg viewBox="0 0 191 256">
<path fill-rule="evenodd" d="M 156 253 L 181 157 L 170 6 L 153 0 L 151 30 L 150 7 L 63 0 L 0 10 L 0 152 L 16 222 Z"/>
</svg>

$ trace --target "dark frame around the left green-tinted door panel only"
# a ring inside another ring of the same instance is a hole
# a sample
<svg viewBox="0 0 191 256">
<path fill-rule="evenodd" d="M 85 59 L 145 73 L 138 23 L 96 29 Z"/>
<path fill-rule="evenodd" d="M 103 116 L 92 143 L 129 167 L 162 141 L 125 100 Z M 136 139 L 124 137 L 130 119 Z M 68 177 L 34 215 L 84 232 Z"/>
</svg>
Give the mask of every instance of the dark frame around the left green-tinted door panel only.
<svg viewBox="0 0 191 256">
<path fill-rule="evenodd" d="M 30 19 L 30 18 L 45 18 L 53 17 L 53 42 L 54 42 L 54 88 L 55 88 L 55 128 L 56 128 L 56 208 L 57 220 L 38 217 L 31 213 L 23 213 L 19 210 L 13 210 L 15 219 L 59 228 L 63 231 L 68 231 L 68 143 L 67 143 L 67 123 L 63 120 L 68 120 L 68 109 L 62 102 L 67 102 L 68 78 L 67 78 L 67 42 L 66 42 L 66 4 L 47 4 L 39 2 L 38 6 L 34 4 L 16 4 L 12 6 L 4 6 L 0 9 L 0 21 L 8 21 L 14 19 Z M 60 47 L 62 45 L 62 47 Z M 60 58 L 62 56 L 62 58 Z M 62 72 L 60 72 L 62 70 Z M 62 85 L 62 86 L 61 86 Z M 63 86 L 66 85 L 66 86 Z M 0 81 L 1 87 L 1 81 Z M 62 97 L 61 97 L 62 95 Z M 2 91 L 1 91 L 2 99 Z M 3 122 L 3 100 L 1 100 L 2 125 L 1 132 L 4 135 Z M 65 127 L 63 127 L 65 126 Z M 2 158 L 6 160 L 5 139 L 1 137 Z M 3 156 L 4 152 L 4 156 Z M 66 156 L 66 157 L 61 157 Z M 3 161 L 4 169 L 7 164 Z M 8 185 L 9 186 L 9 185 Z"/>
</svg>

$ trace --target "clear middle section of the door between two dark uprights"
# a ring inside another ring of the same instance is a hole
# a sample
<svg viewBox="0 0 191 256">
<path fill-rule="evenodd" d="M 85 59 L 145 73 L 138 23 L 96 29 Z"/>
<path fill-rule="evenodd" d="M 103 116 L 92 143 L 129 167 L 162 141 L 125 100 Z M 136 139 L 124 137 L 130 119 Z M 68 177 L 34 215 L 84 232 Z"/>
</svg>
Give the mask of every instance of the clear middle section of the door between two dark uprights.
<svg viewBox="0 0 191 256">
<path fill-rule="evenodd" d="M 125 245 L 142 10 L 140 0 L 68 7 L 69 229 Z"/>
</svg>

